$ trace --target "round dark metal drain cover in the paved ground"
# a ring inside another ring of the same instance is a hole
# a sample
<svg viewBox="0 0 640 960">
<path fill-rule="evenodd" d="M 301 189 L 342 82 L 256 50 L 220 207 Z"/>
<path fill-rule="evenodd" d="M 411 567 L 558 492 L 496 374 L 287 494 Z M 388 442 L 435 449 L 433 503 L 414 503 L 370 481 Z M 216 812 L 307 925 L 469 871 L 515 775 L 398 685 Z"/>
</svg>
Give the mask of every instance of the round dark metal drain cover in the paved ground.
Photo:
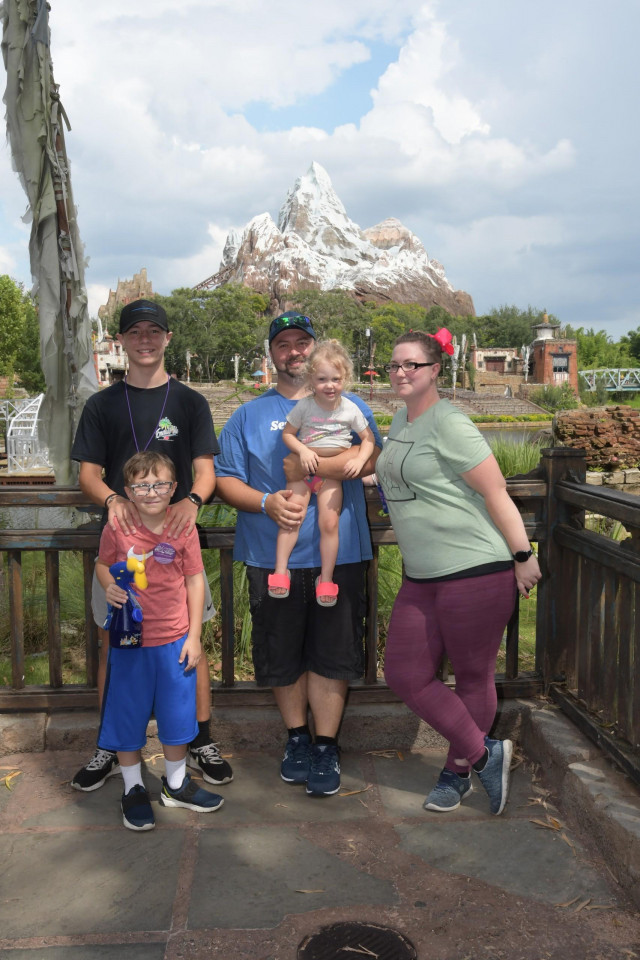
<svg viewBox="0 0 640 960">
<path fill-rule="evenodd" d="M 298 960 L 417 960 L 413 944 L 376 923 L 334 923 L 305 937 Z"/>
</svg>

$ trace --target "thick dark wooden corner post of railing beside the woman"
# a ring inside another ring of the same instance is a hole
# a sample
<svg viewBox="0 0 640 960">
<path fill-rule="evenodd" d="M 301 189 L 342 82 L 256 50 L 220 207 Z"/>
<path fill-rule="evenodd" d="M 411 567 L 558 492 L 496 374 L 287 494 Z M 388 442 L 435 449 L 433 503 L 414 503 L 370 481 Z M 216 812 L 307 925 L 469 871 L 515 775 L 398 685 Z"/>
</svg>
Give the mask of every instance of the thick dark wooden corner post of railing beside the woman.
<svg viewBox="0 0 640 960">
<path fill-rule="evenodd" d="M 549 684 L 564 679 L 567 658 L 571 649 L 575 650 L 575 642 L 571 643 L 571 625 L 576 617 L 571 616 L 571 605 L 578 581 L 577 561 L 555 542 L 554 532 L 559 523 L 584 526 L 584 511 L 557 500 L 555 485 L 565 479 L 585 482 L 585 451 L 573 447 L 547 448 L 542 451 L 540 465 L 547 481 L 547 500 L 545 550 L 539 557 L 542 580 L 538 585 L 536 664 L 547 689 Z"/>
</svg>

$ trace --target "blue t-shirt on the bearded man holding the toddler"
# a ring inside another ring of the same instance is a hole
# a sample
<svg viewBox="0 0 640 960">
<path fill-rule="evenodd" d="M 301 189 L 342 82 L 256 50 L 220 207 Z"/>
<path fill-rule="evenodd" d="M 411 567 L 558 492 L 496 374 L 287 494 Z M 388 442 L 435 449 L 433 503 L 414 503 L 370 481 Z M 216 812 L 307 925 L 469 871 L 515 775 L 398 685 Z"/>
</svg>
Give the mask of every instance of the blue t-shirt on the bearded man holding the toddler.
<svg viewBox="0 0 640 960">
<path fill-rule="evenodd" d="M 375 437 L 382 446 L 380 434 L 369 407 L 355 394 L 349 399 L 360 407 Z M 282 440 L 287 414 L 295 406 L 277 390 L 269 390 L 242 407 L 238 407 L 223 427 L 218 438 L 221 453 L 216 457 L 218 477 L 236 477 L 264 493 L 287 489 L 282 461 L 290 453 Z M 354 434 L 354 443 L 360 438 Z M 361 480 L 343 480 L 343 506 L 340 514 L 339 564 L 359 563 L 371 559 L 371 539 Z M 251 567 L 273 570 L 276 559 L 278 525 L 264 513 L 238 510 L 233 556 Z M 320 566 L 320 533 L 316 516 L 316 498 L 300 529 L 298 542 L 289 560 L 291 569 Z"/>
</svg>

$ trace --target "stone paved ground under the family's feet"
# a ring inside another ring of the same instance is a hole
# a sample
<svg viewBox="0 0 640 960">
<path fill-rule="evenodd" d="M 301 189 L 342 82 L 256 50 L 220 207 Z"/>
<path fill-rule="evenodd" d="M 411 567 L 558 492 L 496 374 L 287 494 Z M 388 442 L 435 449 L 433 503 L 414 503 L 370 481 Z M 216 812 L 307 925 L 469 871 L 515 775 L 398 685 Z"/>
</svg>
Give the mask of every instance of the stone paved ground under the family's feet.
<svg viewBox="0 0 640 960">
<path fill-rule="evenodd" d="M 499 818 L 479 784 L 453 814 L 422 809 L 442 763 L 435 748 L 347 750 L 341 794 L 325 800 L 280 780 L 278 751 L 234 751 L 225 805 L 206 816 L 160 807 L 150 750 L 157 827 L 145 834 L 121 824 L 119 776 L 90 794 L 69 787 L 85 753 L 3 757 L 0 775 L 20 775 L 0 786 L 0 953 L 294 960 L 308 934 L 359 920 L 399 930 L 421 960 L 640 957 L 630 899 L 640 798 L 617 774 L 598 781 L 593 748 L 545 713 L 522 739 L 547 750 L 550 779 L 519 750 Z M 576 817 L 567 778 L 587 775 L 600 786 Z M 594 811 L 624 814 L 628 862 L 616 835 L 603 849 Z"/>
</svg>

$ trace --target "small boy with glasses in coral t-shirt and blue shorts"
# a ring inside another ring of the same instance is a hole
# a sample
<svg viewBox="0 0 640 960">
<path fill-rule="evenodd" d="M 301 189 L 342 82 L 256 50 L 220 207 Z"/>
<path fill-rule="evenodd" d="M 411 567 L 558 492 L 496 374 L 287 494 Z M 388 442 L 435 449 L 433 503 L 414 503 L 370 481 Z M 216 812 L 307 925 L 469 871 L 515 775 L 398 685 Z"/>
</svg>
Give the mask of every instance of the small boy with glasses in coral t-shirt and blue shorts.
<svg viewBox="0 0 640 960">
<path fill-rule="evenodd" d="M 154 713 L 165 757 L 160 803 L 212 813 L 222 797 L 196 786 L 187 773 L 187 745 L 197 734 L 195 668 L 202 658 L 200 631 L 204 608 L 203 565 L 198 531 L 166 539 L 169 499 L 176 472 L 161 453 L 136 453 L 123 468 L 125 492 L 135 503 L 140 524 L 130 534 L 106 526 L 100 538 L 96 575 L 112 608 L 128 599 L 109 568 L 135 557 L 144 568 L 142 644 L 122 646 L 114 634 L 109 646 L 107 680 L 98 747 L 117 750 L 124 780 L 122 821 L 129 830 L 155 826 L 142 781 L 140 751 Z"/>
</svg>

